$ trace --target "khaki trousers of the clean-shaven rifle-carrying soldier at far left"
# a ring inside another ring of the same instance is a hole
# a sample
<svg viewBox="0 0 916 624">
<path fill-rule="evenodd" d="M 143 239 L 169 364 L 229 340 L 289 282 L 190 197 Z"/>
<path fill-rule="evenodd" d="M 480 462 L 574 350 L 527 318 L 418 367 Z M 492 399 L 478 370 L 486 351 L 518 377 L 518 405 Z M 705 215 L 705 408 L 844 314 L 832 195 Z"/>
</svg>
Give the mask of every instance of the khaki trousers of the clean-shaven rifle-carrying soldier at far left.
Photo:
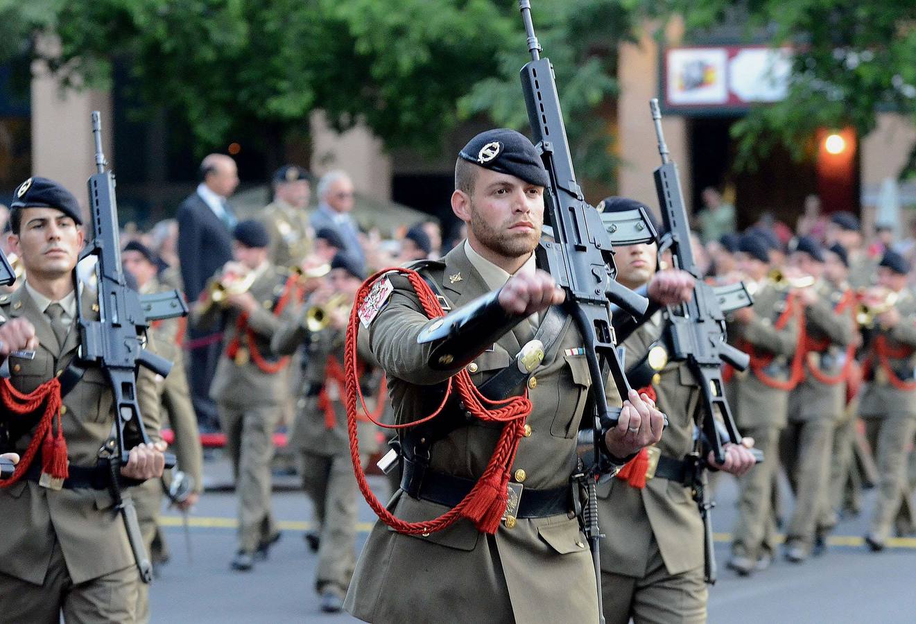
<svg viewBox="0 0 916 624">
<path fill-rule="evenodd" d="M 73 585 L 60 544 L 54 542 L 48 574 L 32 585 L 0 574 L 0 624 L 67 624 L 136 622 L 140 575 L 136 565 Z"/>
</svg>

